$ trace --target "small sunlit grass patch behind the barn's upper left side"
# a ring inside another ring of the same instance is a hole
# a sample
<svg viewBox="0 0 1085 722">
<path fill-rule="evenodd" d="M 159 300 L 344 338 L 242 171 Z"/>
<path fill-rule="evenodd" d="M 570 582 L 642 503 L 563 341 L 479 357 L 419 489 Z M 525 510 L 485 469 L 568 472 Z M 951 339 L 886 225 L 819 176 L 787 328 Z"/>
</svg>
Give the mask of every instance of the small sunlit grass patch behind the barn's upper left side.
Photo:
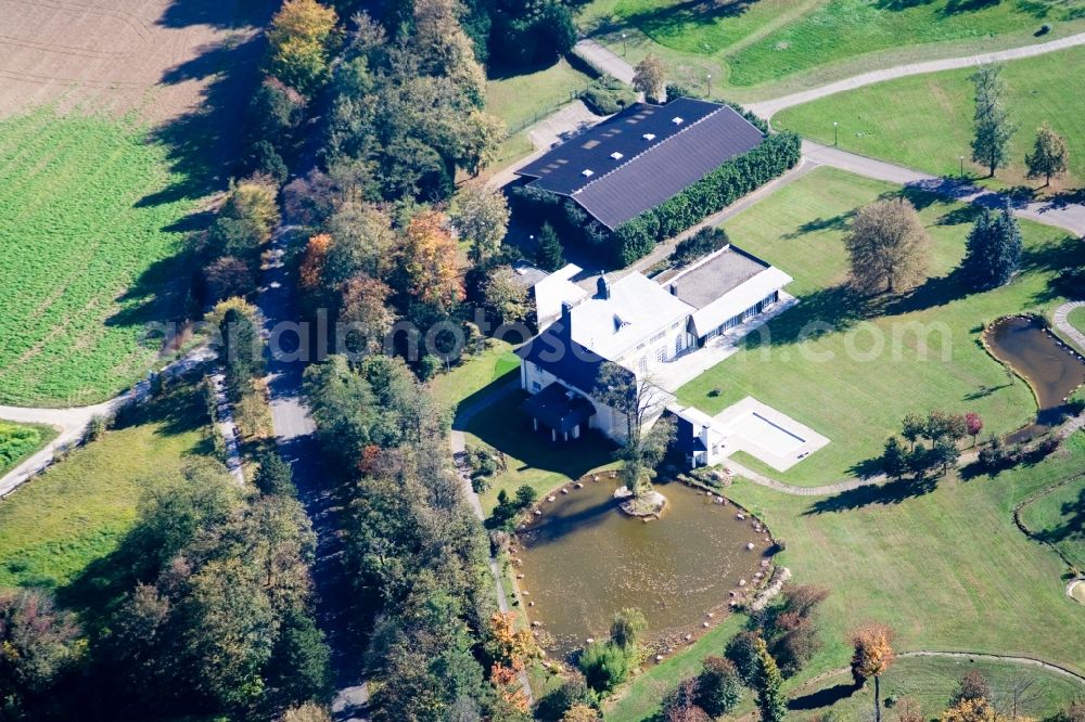
<svg viewBox="0 0 1085 722">
<path fill-rule="evenodd" d="M 590 81 L 565 60 L 521 75 L 493 78 L 486 83 L 486 109 L 516 132 L 573 100 Z"/>
</svg>

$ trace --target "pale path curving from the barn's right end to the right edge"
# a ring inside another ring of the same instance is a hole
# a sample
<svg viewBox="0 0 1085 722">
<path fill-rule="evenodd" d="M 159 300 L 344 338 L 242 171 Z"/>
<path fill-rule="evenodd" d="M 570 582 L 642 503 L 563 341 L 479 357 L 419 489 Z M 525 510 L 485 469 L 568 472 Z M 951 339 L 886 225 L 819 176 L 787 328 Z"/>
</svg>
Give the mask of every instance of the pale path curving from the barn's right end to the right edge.
<svg viewBox="0 0 1085 722">
<path fill-rule="evenodd" d="M 851 78 L 845 78 L 837 82 L 830 82 L 827 86 L 810 88 L 809 90 L 791 93 L 790 95 L 783 95 L 782 98 L 777 98 L 775 100 L 751 103 L 746 107 L 761 117 L 768 119 L 780 111 L 794 105 L 802 105 L 803 103 L 809 103 L 810 101 L 818 100 L 819 98 L 834 95 L 837 93 L 854 90 L 855 88 L 861 88 L 864 86 L 872 86 L 877 82 L 893 80 L 894 78 L 904 78 L 909 75 L 923 75 L 926 73 L 937 73 L 939 70 L 953 70 L 961 67 L 973 67 L 976 65 L 984 65 L 986 63 L 1003 63 L 1005 61 L 1021 60 L 1023 57 L 1043 55 L 1045 53 L 1055 52 L 1057 50 L 1065 50 L 1067 48 L 1073 48 L 1081 44 L 1085 44 L 1085 33 L 1078 33 L 1077 35 L 1071 35 L 1065 38 L 1059 38 L 1058 40 L 1050 40 L 1035 46 L 1023 46 L 1021 48 L 1010 48 L 1009 50 L 979 53 L 976 55 L 966 55 L 963 57 L 946 57 L 943 60 L 927 61 L 924 63 L 907 63 L 905 65 L 886 67 L 881 70 L 863 73 L 861 75 L 852 76 Z M 611 54 L 613 55 L 614 53 Z M 615 57 L 617 56 L 615 55 Z M 621 59 L 618 57 L 618 60 Z"/>
</svg>

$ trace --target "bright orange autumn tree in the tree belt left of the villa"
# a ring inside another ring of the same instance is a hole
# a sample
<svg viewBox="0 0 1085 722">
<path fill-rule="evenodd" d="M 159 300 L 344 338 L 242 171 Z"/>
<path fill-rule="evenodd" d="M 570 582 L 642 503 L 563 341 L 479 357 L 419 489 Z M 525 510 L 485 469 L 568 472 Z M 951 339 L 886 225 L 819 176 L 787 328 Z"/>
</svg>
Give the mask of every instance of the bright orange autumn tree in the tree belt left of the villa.
<svg viewBox="0 0 1085 722">
<path fill-rule="evenodd" d="M 463 300 L 456 241 L 446 221 L 447 217 L 436 210 L 418 214 L 407 224 L 399 252 L 407 291 L 423 304 L 444 310 Z"/>
</svg>

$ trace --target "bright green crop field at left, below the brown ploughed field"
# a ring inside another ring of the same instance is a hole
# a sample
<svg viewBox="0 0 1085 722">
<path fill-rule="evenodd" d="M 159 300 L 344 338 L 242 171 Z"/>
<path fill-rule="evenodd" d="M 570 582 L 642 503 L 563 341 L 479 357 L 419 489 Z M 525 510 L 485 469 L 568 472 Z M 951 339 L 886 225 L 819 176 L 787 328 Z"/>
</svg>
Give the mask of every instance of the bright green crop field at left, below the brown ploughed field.
<svg viewBox="0 0 1085 722">
<path fill-rule="evenodd" d="M 146 372 L 144 324 L 171 318 L 186 276 L 178 181 L 125 120 L 0 120 L 0 403 L 92 403 Z"/>
</svg>

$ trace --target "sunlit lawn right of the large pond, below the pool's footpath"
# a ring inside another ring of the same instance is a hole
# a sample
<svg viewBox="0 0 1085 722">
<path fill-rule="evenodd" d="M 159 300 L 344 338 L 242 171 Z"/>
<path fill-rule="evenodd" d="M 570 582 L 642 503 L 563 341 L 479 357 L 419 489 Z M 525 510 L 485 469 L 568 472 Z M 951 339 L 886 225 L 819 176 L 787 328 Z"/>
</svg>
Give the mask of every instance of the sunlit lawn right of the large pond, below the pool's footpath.
<svg viewBox="0 0 1085 722">
<path fill-rule="evenodd" d="M 820 655 L 845 667 L 848 632 L 891 624 L 896 648 L 1031 656 L 1085 671 L 1085 615 L 1064 595 L 1064 564 L 1023 534 L 1012 510 L 1085 466 L 1085 434 L 1048 460 L 933 491 L 907 482 L 805 499 L 739 481 L 729 491 L 787 542 L 796 582 L 832 590 Z"/>
</svg>

